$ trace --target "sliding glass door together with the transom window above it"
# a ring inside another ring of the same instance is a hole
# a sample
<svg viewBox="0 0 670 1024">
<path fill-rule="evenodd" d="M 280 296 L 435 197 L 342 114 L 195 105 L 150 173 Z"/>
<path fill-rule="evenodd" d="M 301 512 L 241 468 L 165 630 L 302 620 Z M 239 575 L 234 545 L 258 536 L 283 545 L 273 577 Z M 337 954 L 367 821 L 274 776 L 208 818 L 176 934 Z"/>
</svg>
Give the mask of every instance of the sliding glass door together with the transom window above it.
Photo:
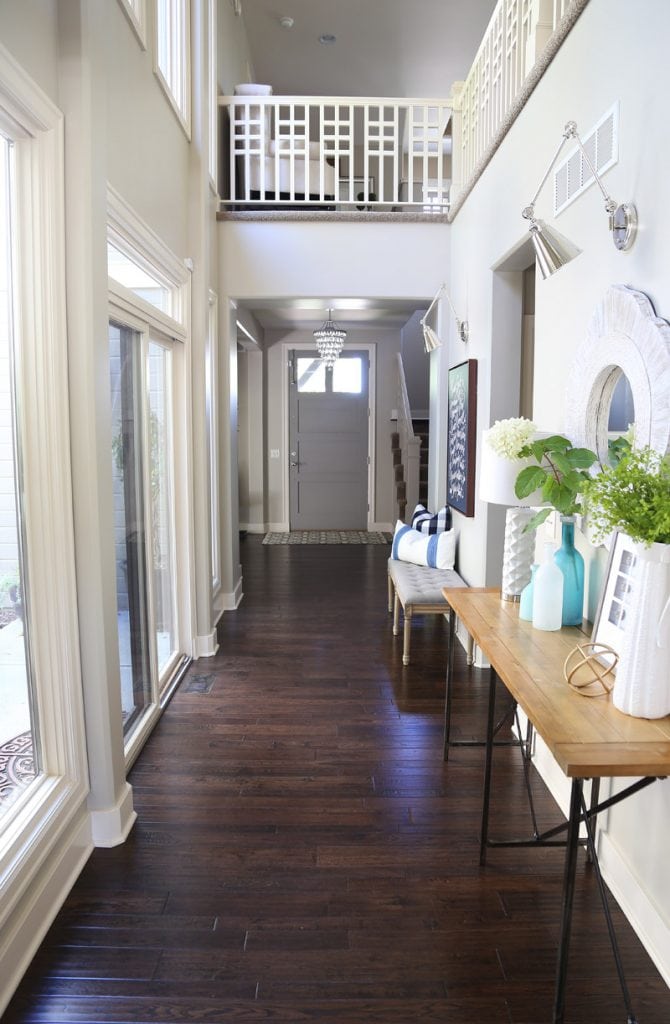
<svg viewBox="0 0 670 1024">
<path fill-rule="evenodd" d="M 178 440 L 186 331 L 179 317 L 185 321 L 189 275 L 112 189 L 109 208 L 111 466 L 121 706 L 130 755 L 153 727 L 191 646 L 187 516 L 175 497 L 184 472 Z"/>
</svg>

